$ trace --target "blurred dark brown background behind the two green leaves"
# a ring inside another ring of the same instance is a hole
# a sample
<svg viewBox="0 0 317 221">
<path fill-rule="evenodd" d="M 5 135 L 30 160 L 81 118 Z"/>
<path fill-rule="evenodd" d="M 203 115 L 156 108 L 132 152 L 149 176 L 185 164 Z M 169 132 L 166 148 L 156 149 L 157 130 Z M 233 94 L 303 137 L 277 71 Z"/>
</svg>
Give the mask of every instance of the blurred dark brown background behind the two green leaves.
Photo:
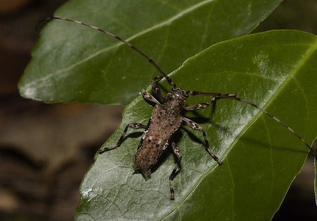
<svg viewBox="0 0 317 221">
<path fill-rule="evenodd" d="M 0 0 L 0 221 L 73 220 L 80 182 L 121 120 L 121 106 L 47 105 L 19 95 L 35 26 L 64 2 Z M 284 0 L 253 32 L 317 35 L 316 15 L 317 0 Z M 273 220 L 316 220 L 314 179 L 310 155 Z"/>
</svg>

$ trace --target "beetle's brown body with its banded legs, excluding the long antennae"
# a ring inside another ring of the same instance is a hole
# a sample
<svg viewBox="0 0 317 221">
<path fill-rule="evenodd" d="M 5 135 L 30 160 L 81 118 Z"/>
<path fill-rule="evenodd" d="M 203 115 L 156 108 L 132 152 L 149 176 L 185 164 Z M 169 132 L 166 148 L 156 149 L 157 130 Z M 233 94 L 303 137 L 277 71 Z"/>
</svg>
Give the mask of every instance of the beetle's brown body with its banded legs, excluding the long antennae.
<svg viewBox="0 0 317 221">
<path fill-rule="evenodd" d="M 222 162 L 216 157 L 209 148 L 209 141 L 206 136 L 206 132 L 199 124 L 196 122 L 183 117 L 180 113 L 182 110 L 201 110 L 210 106 L 214 100 L 215 96 L 212 97 L 210 103 L 202 103 L 196 104 L 190 107 L 186 106 L 186 99 L 188 98 L 188 93 L 194 94 L 199 92 L 194 91 L 185 91 L 179 87 L 172 88 L 171 92 L 166 96 L 163 96 L 159 86 L 155 82 L 157 79 L 161 79 L 162 76 L 157 76 L 151 81 L 152 88 L 155 93 L 163 100 L 163 104 L 160 104 L 157 99 L 155 99 L 152 95 L 142 89 L 143 97 L 156 104 L 152 115 L 150 117 L 149 123 L 147 125 L 141 123 L 130 123 L 128 124 L 119 141 L 112 147 L 104 148 L 99 150 L 99 154 L 102 154 L 106 151 L 117 148 L 121 145 L 123 138 L 128 130 L 128 128 L 140 129 L 145 128 L 145 131 L 142 135 L 141 141 L 136 151 L 134 167 L 133 169 L 141 169 L 144 176 L 148 176 L 151 174 L 151 167 L 154 166 L 158 158 L 161 156 L 163 150 L 167 148 L 169 144 L 171 144 L 175 155 L 178 157 L 178 161 L 169 176 L 169 188 L 170 188 L 170 199 L 174 200 L 174 189 L 172 180 L 174 178 L 176 169 L 178 168 L 181 160 L 182 154 L 180 152 L 179 147 L 171 141 L 171 135 L 180 127 L 183 121 L 185 121 L 192 129 L 199 130 L 203 132 L 204 140 L 205 140 L 205 148 L 210 156 L 215 160 L 219 165 L 222 165 Z M 174 83 L 172 80 L 170 82 Z M 235 94 L 227 94 L 223 96 L 235 97 Z"/>
</svg>

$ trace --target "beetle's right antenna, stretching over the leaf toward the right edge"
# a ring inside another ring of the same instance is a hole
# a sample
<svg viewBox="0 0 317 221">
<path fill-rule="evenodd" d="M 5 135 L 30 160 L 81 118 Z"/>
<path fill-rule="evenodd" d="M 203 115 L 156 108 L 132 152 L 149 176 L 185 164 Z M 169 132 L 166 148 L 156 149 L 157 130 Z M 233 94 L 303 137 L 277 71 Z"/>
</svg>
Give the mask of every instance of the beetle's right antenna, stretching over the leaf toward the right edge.
<svg viewBox="0 0 317 221">
<path fill-rule="evenodd" d="M 217 98 L 229 98 L 229 99 L 233 99 L 233 100 L 237 100 L 237 101 L 241 101 L 243 103 L 246 103 L 248 105 L 251 105 L 259 110 L 261 110 L 262 112 L 264 112 L 265 114 L 269 115 L 270 117 L 272 117 L 274 120 L 276 120 L 277 122 L 279 122 L 280 124 L 282 124 L 284 127 L 286 127 L 289 131 L 291 131 L 293 134 L 295 134 L 295 136 L 297 136 L 313 153 L 316 161 L 317 161 L 317 156 L 316 156 L 316 152 L 306 143 L 306 141 L 300 136 L 298 135 L 292 128 L 290 128 L 289 126 L 287 126 L 285 123 L 283 123 L 282 121 L 280 121 L 279 119 L 277 119 L 275 116 L 273 116 L 272 114 L 270 114 L 269 112 L 267 112 L 266 110 L 263 110 L 262 108 L 260 108 L 259 106 L 248 102 L 246 100 L 243 100 L 241 98 L 237 98 L 235 96 L 235 94 L 232 95 L 226 95 L 226 94 L 218 94 L 218 93 L 206 93 L 206 92 L 199 92 L 199 91 L 187 91 L 188 94 L 190 95 L 211 95 L 213 97 L 217 97 Z"/>
</svg>

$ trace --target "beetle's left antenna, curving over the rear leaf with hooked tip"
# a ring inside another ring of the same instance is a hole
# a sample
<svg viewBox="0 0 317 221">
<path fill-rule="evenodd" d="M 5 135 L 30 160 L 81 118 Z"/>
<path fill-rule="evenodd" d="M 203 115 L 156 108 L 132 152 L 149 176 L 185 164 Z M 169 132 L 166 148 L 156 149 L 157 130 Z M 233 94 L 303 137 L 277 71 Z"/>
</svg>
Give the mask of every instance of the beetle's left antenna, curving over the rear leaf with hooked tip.
<svg viewBox="0 0 317 221">
<path fill-rule="evenodd" d="M 163 75 L 163 76 L 166 78 L 167 82 L 168 82 L 170 85 L 172 85 L 173 87 L 176 87 L 174 81 L 173 81 L 172 79 L 170 79 L 170 78 L 159 68 L 159 66 L 158 66 L 150 57 L 148 57 L 147 55 L 143 54 L 143 52 L 141 52 L 139 49 L 137 49 L 136 47 L 134 47 L 134 46 L 131 45 L 130 43 L 124 41 L 124 40 L 121 39 L 120 37 L 115 36 L 115 35 L 113 35 L 113 34 L 107 32 L 107 31 L 105 31 L 105 30 L 103 30 L 103 29 L 100 29 L 100 28 L 98 28 L 98 27 L 95 27 L 95 26 L 93 26 L 93 25 L 89 25 L 89 24 L 86 24 L 86 23 L 83 23 L 83 22 L 80 22 L 80 21 L 71 20 L 71 19 L 68 19 L 68 18 L 49 17 L 49 18 L 45 18 L 45 19 L 42 19 L 41 21 L 39 21 L 38 24 L 37 24 L 37 26 L 36 26 L 36 28 L 35 28 L 35 31 L 37 31 L 38 25 L 39 25 L 41 22 L 46 21 L 46 20 L 52 20 L 52 19 L 65 20 L 65 21 L 70 21 L 70 22 L 74 22 L 74 23 L 77 23 L 77 24 L 85 25 L 85 26 L 87 26 L 87 27 L 96 29 L 96 30 L 98 30 L 98 31 L 101 31 L 101 32 L 103 32 L 103 33 L 105 33 L 105 34 L 107 34 L 107 35 L 113 37 L 113 38 L 118 39 L 119 41 L 123 42 L 124 44 L 126 44 L 127 46 L 129 46 L 130 48 L 132 48 L 132 49 L 133 49 L 134 51 L 136 51 L 138 54 L 142 55 L 145 59 L 147 59 L 147 60 L 159 71 L 159 73 L 160 73 L 161 75 Z"/>
</svg>

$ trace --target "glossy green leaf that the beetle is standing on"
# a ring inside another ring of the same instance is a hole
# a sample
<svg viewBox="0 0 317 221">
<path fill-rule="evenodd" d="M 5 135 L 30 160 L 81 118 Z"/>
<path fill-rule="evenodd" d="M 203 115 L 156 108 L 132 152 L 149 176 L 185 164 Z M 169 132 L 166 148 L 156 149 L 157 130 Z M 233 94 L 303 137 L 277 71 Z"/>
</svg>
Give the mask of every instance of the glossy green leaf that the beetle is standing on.
<svg viewBox="0 0 317 221">
<path fill-rule="evenodd" d="M 317 137 L 317 37 L 300 31 L 270 31 L 222 42 L 186 60 L 170 77 L 178 87 L 237 97 L 263 107 L 312 145 Z M 164 91 L 171 86 L 160 82 Z M 191 96 L 187 105 L 209 102 Z M 104 147 L 114 145 L 128 123 L 146 124 L 153 106 L 141 96 L 123 113 Z M 169 199 L 168 177 L 176 159 L 168 147 L 151 177 L 134 171 L 143 130 L 129 129 L 120 147 L 102 155 L 81 184 L 76 220 L 270 220 L 309 149 L 287 128 L 254 107 L 217 99 L 212 107 L 187 111 L 204 127 L 218 166 L 200 131 L 186 123 L 175 133 L 180 171 Z"/>
</svg>

